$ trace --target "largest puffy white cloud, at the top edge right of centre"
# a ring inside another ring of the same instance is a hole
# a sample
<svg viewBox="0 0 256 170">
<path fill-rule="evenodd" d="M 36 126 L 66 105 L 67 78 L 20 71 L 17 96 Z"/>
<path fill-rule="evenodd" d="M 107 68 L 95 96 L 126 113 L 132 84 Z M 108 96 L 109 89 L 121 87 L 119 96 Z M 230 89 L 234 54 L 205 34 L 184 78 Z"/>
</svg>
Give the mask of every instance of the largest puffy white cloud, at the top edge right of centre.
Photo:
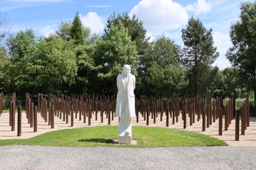
<svg viewBox="0 0 256 170">
<path fill-rule="evenodd" d="M 188 22 L 186 8 L 172 0 L 142 0 L 134 6 L 130 16 L 136 14 L 152 35 L 160 35 Z"/>
</svg>

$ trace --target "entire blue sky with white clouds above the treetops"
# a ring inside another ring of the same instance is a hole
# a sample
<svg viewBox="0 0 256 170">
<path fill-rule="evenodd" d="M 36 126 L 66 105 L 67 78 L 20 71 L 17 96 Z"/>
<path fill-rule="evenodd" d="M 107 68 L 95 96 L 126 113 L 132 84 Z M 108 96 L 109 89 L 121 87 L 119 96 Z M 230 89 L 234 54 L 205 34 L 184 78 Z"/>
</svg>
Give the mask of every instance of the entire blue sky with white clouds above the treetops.
<svg viewBox="0 0 256 170">
<path fill-rule="evenodd" d="M 212 28 L 214 45 L 220 52 L 214 65 L 220 70 L 230 66 L 225 54 L 231 42 L 231 23 L 238 21 L 241 0 L 0 0 L 0 12 L 12 24 L 10 33 L 32 28 L 36 36 L 54 33 L 61 20 L 72 21 L 76 11 L 92 33 L 102 34 L 106 20 L 113 14 L 136 14 L 151 41 L 165 35 L 183 46 L 181 29 L 190 17 L 199 18 Z M 250 2 L 254 2 L 250 0 Z"/>
</svg>

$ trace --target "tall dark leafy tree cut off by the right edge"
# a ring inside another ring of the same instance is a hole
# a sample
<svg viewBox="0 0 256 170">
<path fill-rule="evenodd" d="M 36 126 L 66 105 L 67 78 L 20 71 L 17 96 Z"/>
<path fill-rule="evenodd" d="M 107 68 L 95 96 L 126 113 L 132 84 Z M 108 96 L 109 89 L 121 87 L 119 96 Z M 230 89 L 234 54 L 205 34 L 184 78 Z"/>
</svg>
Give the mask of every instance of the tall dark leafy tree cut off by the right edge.
<svg viewBox="0 0 256 170">
<path fill-rule="evenodd" d="M 228 49 L 226 58 L 248 90 L 253 90 L 256 106 L 256 2 L 244 2 L 240 10 L 240 20 L 230 26 L 233 47 Z"/>
</svg>

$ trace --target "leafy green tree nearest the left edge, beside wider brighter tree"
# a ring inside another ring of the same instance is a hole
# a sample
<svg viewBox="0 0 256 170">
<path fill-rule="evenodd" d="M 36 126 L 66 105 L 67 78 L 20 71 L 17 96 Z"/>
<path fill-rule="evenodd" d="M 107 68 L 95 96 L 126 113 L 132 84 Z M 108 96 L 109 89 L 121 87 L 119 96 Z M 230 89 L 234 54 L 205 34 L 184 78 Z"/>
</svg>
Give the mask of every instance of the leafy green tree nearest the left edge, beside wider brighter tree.
<svg viewBox="0 0 256 170">
<path fill-rule="evenodd" d="M 9 35 L 6 44 L 10 56 L 10 63 L 6 69 L 8 76 L 9 92 L 26 91 L 28 82 L 27 72 L 22 69 L 27 64 L 36 50 L 37 39 L 32 29 L 19 31 L 15 37 Z M 24 72 L 23 72 L 24 71 Z M 26 79 L 26 80 L 25 80 Z"/>
</svg>

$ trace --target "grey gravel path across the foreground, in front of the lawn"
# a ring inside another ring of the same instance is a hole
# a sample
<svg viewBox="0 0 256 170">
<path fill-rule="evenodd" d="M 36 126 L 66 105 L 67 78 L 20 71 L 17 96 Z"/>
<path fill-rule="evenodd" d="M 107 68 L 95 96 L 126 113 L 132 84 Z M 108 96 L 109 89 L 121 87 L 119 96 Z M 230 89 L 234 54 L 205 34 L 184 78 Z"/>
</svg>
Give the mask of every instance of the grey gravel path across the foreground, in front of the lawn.
<svg viewBox="0 0 256 170">
<path fill-rule="evenodd" d="M 256 169 L 256 147 L 0 147 L 0 169 Z"/>
</svg>

